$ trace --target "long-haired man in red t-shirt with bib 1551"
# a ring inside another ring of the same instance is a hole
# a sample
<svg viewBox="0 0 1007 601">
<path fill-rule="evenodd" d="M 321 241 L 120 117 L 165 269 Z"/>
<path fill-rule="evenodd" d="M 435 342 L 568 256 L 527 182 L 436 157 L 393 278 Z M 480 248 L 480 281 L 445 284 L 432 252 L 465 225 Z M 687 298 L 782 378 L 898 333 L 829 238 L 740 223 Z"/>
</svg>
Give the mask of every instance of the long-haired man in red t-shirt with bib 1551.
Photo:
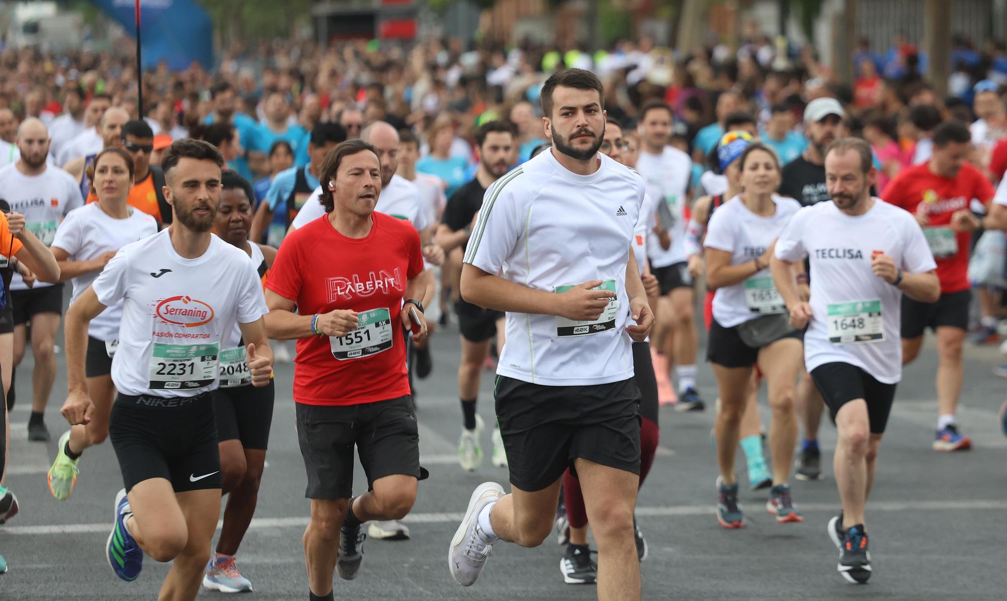
<svg viewBox="0 0 1007 601">
<path fill-rule="evenodd" d="M 297 340 L 309 598 L 332 599 L 333 568 L 344 580 L 359 569 L 362 524 L 401 520 L 416 500 L 419 435 L 403 329 L 414 340 L 427 336 L 416 298 L 428 275 L 416 228 L 374 212 L 382 187 L 374 147 L 359 140 L 336 146 L 319 181 L 326 215 L 280 246 L 266 281 L 266 327 L 274 339 Z M 354 444 L 371 491 L 351 497 Z"/>
</svg>

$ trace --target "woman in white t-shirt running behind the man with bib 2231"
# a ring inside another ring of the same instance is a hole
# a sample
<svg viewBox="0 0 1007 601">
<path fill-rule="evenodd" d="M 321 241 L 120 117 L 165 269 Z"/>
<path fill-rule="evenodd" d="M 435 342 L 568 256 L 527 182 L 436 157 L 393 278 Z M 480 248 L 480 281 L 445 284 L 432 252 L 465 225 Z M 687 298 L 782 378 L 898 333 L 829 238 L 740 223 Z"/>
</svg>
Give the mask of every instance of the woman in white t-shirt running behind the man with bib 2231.
<svg viewBox="0 0 1007 601">
<path fill-rule="evenodd" d="M 59 223 L 52 254 L 59 261 L 59 280 L 70 279 L 70 304 L 98 277 L 122 246 L 157 233 L 157 221 L 127 204 L 133 187 L 133 158 L 121 148 L 109 148 L 95 158 L 88 181 L 98 202 L 74 209 Z M 77 484 L 78 461 L 84 449 L 109 436 L 109 414 L 115 399 L 112 356 L 119 342 L 122 303 L 109 307 L 88 327 L 86 370 L 88 393 L 95 413 L 88 424 L 73 426 L 59 437 L 56 458 L 46 477 L 49 492 L 65 500 Z"/>
</svg>

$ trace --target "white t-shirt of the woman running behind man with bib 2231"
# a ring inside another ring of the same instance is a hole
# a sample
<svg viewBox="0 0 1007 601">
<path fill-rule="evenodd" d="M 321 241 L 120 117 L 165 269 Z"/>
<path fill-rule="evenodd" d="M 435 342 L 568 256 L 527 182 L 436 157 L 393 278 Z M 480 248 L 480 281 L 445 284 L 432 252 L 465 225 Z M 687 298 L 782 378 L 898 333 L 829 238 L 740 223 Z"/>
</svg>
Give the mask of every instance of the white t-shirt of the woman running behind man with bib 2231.
<svg viewBox="0 0 1007 601">
<path fill-rule="evenodd" d="M 74 209 L 56 229 L 52 247 L 65 250 L 69 255 L 67 260 L 88 261 L 157 233 L 156 219 L 143 211 L 129 210 L 129 217 L 116 219 L 103 211 L 97 202 Z M 98 278 L 99 273 L 92 271 L 70 278 L 74 284 L 70 305 Z M 118 339 L 122 312 L 121 303 L 110 306 L 91 321 L 88 335 L 103 342 Z"/>
</svg>

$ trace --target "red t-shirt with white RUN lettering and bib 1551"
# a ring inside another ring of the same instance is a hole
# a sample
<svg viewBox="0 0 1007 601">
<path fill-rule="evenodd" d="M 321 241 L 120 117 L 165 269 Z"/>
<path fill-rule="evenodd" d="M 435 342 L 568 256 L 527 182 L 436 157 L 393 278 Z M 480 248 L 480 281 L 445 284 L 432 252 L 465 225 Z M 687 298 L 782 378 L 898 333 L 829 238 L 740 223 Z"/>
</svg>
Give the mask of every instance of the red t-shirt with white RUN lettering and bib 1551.
<svg viewBox="0 0 1007 601">
<path fill-rule="evenodd" d="M 356 405 L 409 394 L 399 314 L 407 280 L 421 271 L 416 228 L 384 213 L 374 213 L 371 233 L 359 239 L 337 232 L 327 214 L 287 236 L 266 287 L 301 315 L 348 309 L 361 319 L 346 337 L 297 341 L 295 401 Z"/>
</svg>

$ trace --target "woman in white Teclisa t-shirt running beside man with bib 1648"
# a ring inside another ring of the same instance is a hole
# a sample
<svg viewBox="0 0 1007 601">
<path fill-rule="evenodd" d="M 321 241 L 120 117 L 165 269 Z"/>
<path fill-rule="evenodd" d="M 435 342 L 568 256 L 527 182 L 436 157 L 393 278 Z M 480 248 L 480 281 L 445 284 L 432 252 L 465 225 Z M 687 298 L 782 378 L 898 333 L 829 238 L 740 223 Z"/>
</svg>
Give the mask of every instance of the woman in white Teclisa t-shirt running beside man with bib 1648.
<svg viewBox="0 0 1007 601">
<path fill-rule="evenodd" d="M 801 205 L 774 194 L 780 182 L 779 159 L 768 147 L 750 144 L 738 158 L 738 166 L 742 192 L 713 214 L 705 240 L 707 285 L 716 290 L 707 358 L 720 392 L 715 427 L 720 467 L 717 520 L 724 528 L 745 524 L 737 504 L 734 457 L 756 365 L 765 377 L 772 409 L 773 485 L 766 511 L 776 522 L 803 521 L 786 484 L 798 435 L 794 384 L 803 346 L 801 333 L 789 329 L 785 307 L 768 271 L 775 239 Z M 777 331 L 767 324 L 773 320 L 781 321 Z M 752 330 L 759 334 L 746 336 Z"/>
</svg>

